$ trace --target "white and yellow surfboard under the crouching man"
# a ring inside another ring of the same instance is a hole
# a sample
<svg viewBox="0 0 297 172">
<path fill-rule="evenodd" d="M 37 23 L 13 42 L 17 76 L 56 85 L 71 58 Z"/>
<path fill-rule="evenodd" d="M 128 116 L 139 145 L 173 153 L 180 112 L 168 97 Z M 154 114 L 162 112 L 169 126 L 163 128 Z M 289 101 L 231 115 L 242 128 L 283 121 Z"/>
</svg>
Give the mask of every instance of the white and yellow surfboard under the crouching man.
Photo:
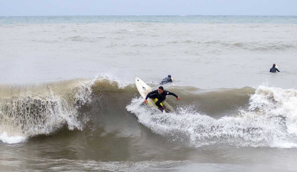
<svg viewBox="0 0 297 172">
<path fill-rule="evenodd" d="M 149 87 L 148 85 L 146 85 L 145 82 L 143 82 L 141 79 L 139 78 L 135 78 L 135 84 L 137 87 L 137 90 L 139 92 L 139 94 L 141 95 L 142 98 L 146 98 L 146 95 L 151 92 L 151 87 Z M 155 105 L 155 103 L 158 101 L 158 99 L 148 99 L 148 104 L 151 106 L 155 106 L 157 107 L 157 105 Z M 160 103 L 162 105 L 162 103 Z M 163 106 L 163 105 L 162 105 Z M 166 113 L 165 110 L 163 111 L 163 113 Z"/>
</svg>

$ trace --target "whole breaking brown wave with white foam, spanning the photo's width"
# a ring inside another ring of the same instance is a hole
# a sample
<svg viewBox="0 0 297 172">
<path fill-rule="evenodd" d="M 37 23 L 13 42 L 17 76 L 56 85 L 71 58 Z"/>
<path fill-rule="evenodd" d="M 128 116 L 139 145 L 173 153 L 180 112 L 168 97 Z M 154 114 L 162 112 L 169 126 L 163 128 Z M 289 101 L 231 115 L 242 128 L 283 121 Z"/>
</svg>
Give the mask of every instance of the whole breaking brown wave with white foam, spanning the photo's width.
<svg viewBox="0 0 297 172">
<path fill-rule="evenodd" d="M 159 86 L 149 85 L 153 89 Z M 173 111 L 164 115 L 143 105 L 134 83 L 108 75 L 40 86 L 1 86 L 0 140 L 18 143 L 32 136 L 51 135 L 65 126 L 83 130 L 101 125 L 113 130 L 122 122 L 115 119 L 129 114 L 157 135 L 191 147 L 297 147 L 296 89 L 203 90 L 173 85 L 165 89 L 182 100 L 168 96 L 165 101 Z M 118 132 L 132 137 L 129 128 L 135 124 L 126 122 Z"/>
</svg>

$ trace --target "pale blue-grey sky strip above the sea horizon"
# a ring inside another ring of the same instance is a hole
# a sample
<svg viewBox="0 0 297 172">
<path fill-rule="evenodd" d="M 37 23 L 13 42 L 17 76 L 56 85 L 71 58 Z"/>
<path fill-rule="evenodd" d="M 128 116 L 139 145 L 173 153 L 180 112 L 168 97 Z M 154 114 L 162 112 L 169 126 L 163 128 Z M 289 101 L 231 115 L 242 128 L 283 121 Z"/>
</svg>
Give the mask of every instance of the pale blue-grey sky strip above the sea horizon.
<svg viewBox="0 0 297 172">
<path fill-rule="evenodd" d="M 297 15 L 297 0 L 0 0 L 0 16 Z"/>
</svg>

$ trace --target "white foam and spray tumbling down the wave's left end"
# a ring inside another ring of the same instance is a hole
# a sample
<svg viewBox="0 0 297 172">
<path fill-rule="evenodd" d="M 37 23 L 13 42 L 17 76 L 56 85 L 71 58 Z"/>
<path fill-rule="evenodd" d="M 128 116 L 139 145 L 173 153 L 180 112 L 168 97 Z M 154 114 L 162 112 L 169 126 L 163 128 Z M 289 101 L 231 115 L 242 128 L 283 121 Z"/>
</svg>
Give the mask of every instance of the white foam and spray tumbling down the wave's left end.
<svg viewBox="0 0 297 172">
<path fill-rule="evenodd" d="M 83 130 L 82 121 L 77 119 L 77 109 L 80 105 L 91 101 L 91 85 L 94 81 L 95 79 L 78 83 L 73 99 L 69 100 L 57 96 L 48 85 L 49 94 L 45 97 L 38 97 L 40 100 L 30 96 L 20 96 L 15 97 L 12 102 L 6 102 L 3 105 L 10 109 L 0 109 L 2 116 L 0 140 L 5 143 L 19 143 L 31 136 L 53 133 L 64 124 L 67 124 L 69 130 Z M 37 108 L 42 108 L 42 111 L 34 111 L 34 115 L 32 115 L 31 107 L 36 102 Z M 79 105 L 74 106 L 73 104 L 77 102 Z M 19 106 L 20 103 L 23 104 L 22 107 Z M 14 108 L 15 106 L 18 108 Z M 19 115 L 19 111 L 16 109 L 19 109 L 22 114 Z M 29 109 L 31 112 L 28 111 Z"/>
</svg>

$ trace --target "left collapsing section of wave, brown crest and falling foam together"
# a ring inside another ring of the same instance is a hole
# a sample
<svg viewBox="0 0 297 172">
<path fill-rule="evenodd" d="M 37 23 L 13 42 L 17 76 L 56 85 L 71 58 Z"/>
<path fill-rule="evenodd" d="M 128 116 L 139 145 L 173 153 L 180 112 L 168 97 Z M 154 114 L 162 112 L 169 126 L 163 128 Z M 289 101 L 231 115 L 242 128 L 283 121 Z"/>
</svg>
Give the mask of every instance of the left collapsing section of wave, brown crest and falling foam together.
<svg viewBox="0 0 297 172">
<path fill-rule="evenodd" d="M 20 93 L 0 99 L 0 141 L 19 143 L 32 136 L 49 135 L 64 125 L 69 130 L 83 130 L 89 119 L 78 109 L 92 101 L 94 81 L 47 83 L 31 90 L 25 87 L 28 92 L 16 90 Z"/>
</svg>

